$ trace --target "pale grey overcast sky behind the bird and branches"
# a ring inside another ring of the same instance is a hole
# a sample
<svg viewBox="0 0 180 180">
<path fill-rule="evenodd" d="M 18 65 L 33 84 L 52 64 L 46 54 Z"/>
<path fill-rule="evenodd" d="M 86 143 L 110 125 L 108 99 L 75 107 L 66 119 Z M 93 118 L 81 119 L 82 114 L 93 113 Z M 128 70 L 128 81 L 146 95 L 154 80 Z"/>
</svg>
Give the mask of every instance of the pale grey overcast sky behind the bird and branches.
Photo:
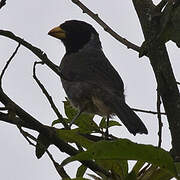
<svg viewBox="0 0 180 180">
<path fill-rule="evenodd" d="M 110 25 L 117 33 L 129 41 L 141 45 L 143 34 L 131 0 L 88 1 L 83 0 L 95 13 Z M 154 0 L 154 2 L 159 2 Z M 103 50 L 109 61 L 121 75 L 125 84 L 126 101 L 131 107 L 156 110 L 156 82 L 149 60 L 138 58 L 138 54 L 106 33 L 94 20 L 74 5 L 70 0 L 52 1 L 10 1 L 0 10 L 0 29 L 14 32 L 33 45 L 41 48 L 56 64 L 64 54 L 60 41 L 47 35 L 47 32 L 65 20 L 79 19 L 92 24 L 100 34 Z M 17 43 L 0 36 L 0 70 L 11 56 Z M 167 43 L 169 55 L 177 80 L 180 80 L 180 51 L 172 42 Z M 32 78 L 32 66 L 35 57 L 29 50 L 21 47 L 5 74 L 3 87 L 5 92 L 27 112 L 43 124 L 50 125 L 57 117 L 51 110 L 46 98 Z M 62 114 L 65 93 L 59 78 L 46 66 L 38 68 L 38 77 L 45 84 Z M 120 138 L 134 142 L 157 145 L 157 117 L 138 113 L 146 124 L 148 135 L 131 135 L 124 126 L 111 128 L 110 132 Z M 118 120 L 118 118 L 116 118 Z M 166 150 L 171 148 L 170 134 L 166 118 L 163 118 L 163 142 Z M 0 179 L 3 180 L 39 180 L 59 179 L 51 161 L 44 155 L 40 160 L 15 126 L 0 122 Z M 51 147 L 54 158 L 61 162 L 66 155 Z M 71 177 L 75 177 L 77 163 L 66 166 Z"/>
</svg>

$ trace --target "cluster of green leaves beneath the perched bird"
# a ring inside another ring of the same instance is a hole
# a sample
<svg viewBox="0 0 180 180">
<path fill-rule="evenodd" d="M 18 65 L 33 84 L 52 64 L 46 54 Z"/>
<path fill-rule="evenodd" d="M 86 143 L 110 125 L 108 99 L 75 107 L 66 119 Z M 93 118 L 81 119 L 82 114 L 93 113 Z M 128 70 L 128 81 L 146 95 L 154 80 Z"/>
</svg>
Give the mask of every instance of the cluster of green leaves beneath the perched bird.
<svg viewBox="0 0 180 180">
<path fill-rule="evenodd" d="M 64 101 L 64 110 L 70 122 L 77 110 L 74 109 L 70 102 Z M 52 125 L 58 125 L 61 120 L 55 120 Z M 115 138 L 109 135 L 104 139 L 103 129 L 105 119 L 97 124 L 94 116 L 91 114 L 82 114 L 73 129 L 57 129 L 56 133 L 60 139 L 73 144 L 79 150 L 79 153 L 64 159 L 60 167 L 64 167 L 73 161 L 95 162 L 98 166 L 110 172 L 111 176 L 96 172 L 97 175 L 88 174 L 87 167 L 80 165 L 77 167 L 76 179 L 85 179 L 89 175 L 92 179 L 120 179 L 120 180 L 169 180 L 177 177 L 179 163 L 174 163 L 169 152 L 154 147 L 152 145 L 137 144 L 128 139 Z M 112 121 L 111 126 L 120 125 Z M 46 148 L 50 145 L 41 134 L 39 135 L 36 145 L 36 155 L 40 158 Z M 43 144 L 43 145 L 42 145 Z M 42 148 L 43 147 L 43 148 Z M 38 152 L 38 153 L 37 153 Z M 40 156 L 39 156 L 40 155 Z M 129 160 L 134 160 L 135 164 L 130 170 Z"/>
</svg>

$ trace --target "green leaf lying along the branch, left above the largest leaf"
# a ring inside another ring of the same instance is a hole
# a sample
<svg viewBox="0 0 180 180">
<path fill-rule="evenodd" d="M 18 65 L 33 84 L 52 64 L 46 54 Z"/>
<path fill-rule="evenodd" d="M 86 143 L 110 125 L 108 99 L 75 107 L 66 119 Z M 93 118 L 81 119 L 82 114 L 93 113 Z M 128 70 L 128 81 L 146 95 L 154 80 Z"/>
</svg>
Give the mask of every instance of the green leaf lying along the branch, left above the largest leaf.
<svg viewBox="0 0 180 180">
<path fill-rule="evenodd" d="M 78 130 L 79 129 L 72 129 L 72 130 L 59 129 L 56 132 L 57 135 L 66 142 L 78 143 L 81 146 L 85 147 L 86 149 L 89 148 L 94 142 L 80 135 Z"/>
</svg>

